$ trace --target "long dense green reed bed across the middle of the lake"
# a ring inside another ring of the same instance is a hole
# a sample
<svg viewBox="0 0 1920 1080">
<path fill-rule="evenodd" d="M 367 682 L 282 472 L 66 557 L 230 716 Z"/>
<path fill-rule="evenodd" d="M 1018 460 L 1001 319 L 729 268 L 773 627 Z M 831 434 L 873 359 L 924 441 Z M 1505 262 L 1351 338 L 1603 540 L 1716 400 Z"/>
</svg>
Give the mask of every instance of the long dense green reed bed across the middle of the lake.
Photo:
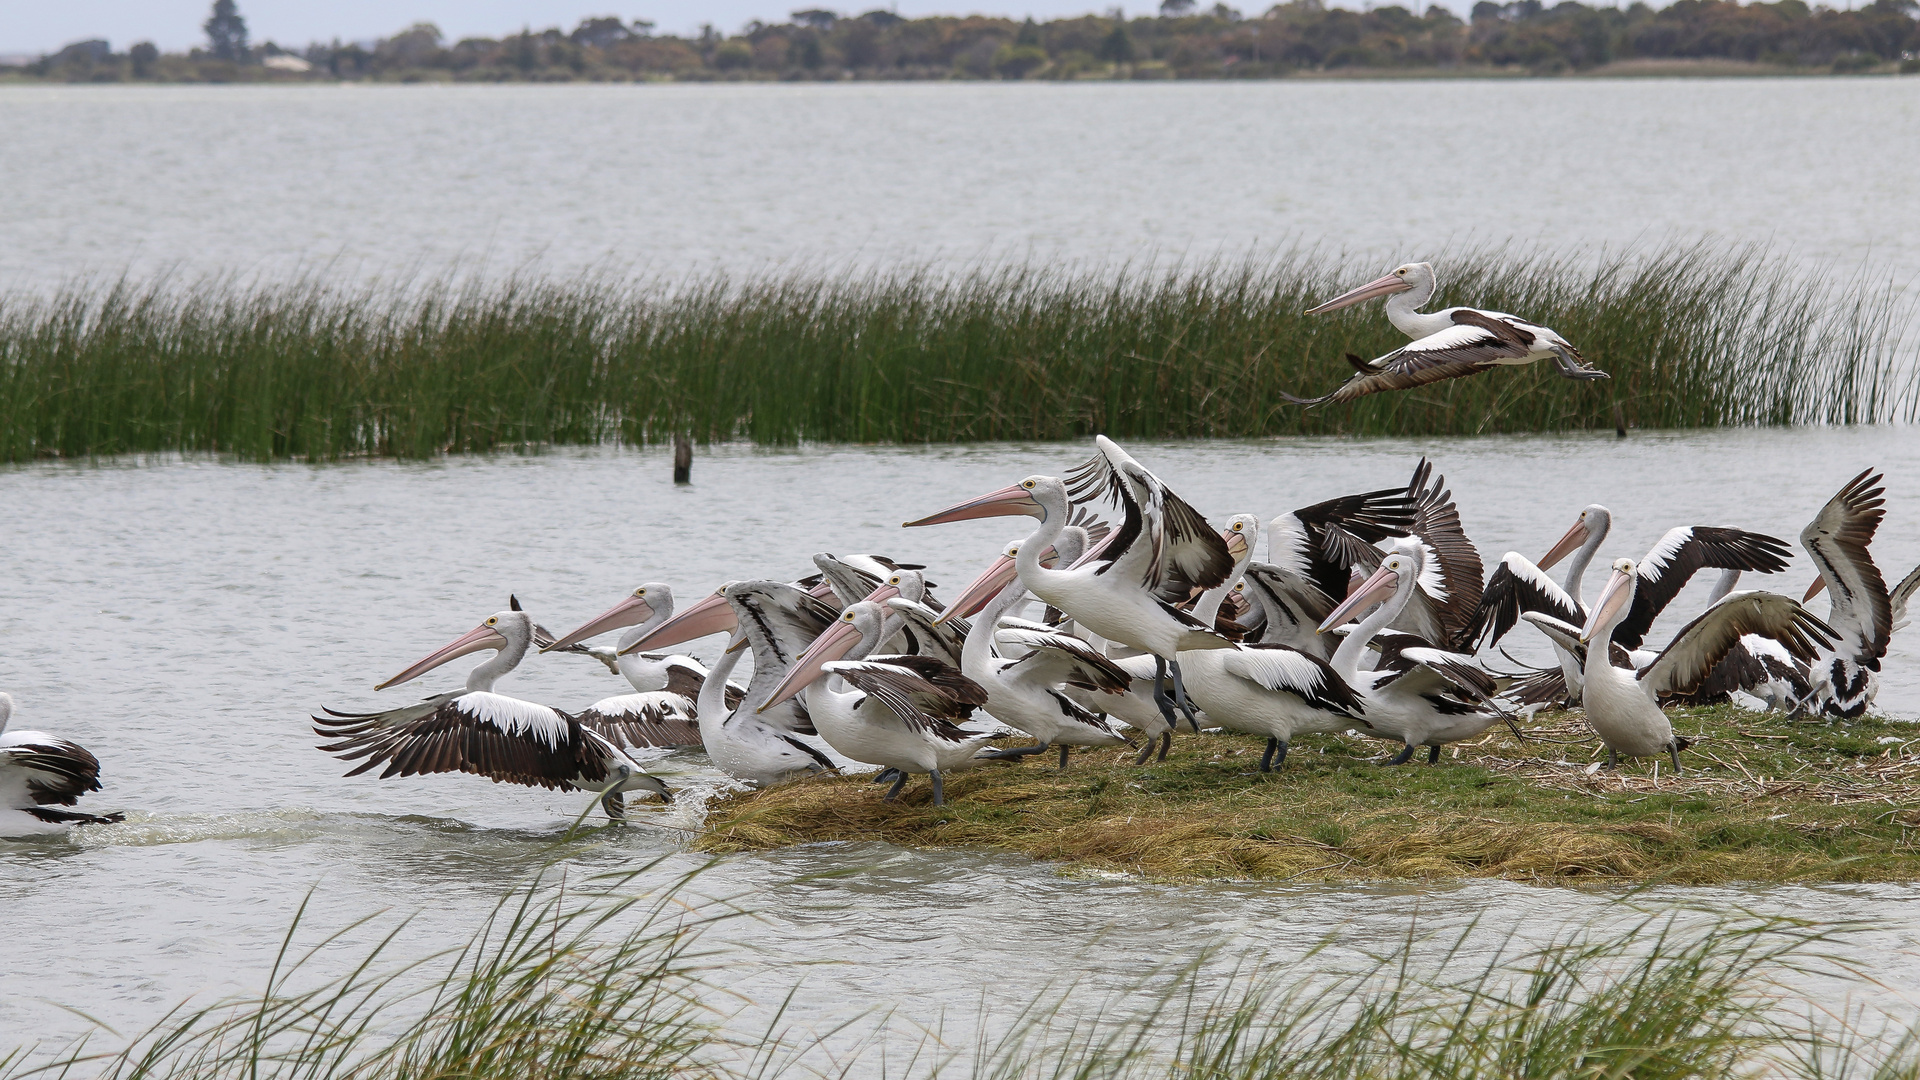
<svg viewBox="0 0 1920 1080">
<path fill-rule="evenodd" d="M 1755 248 L 1438 261 L 1440 304 L 1546 321 L 1549 365 L 1304 409 L 1379 306 L 1302 311 L 1379 265 L 1290 252 L 1171 271 L 424 286 L 75 286 L 0 302 L 0 459 L 428 457 L 540 444 L 1052 440 L 1910 421 L 1912 304 Z"/>
</svg>

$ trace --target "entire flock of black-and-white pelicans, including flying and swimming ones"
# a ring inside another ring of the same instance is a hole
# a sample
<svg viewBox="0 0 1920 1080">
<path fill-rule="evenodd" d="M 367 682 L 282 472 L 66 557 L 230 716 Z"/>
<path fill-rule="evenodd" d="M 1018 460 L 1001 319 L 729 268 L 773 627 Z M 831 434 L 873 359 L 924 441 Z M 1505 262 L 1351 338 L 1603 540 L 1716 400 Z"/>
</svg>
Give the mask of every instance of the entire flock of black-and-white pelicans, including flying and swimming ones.
<svg viewBox="0 0 1920 1080">
<path fill-rule="evenodd" d="M 1569 379 L 1605 377 L 1546 327 L 1473 307 L 1421 313 L 1432 292 L 1432 267 L 1409 263 L 1315 307 L 1386 296 L 1388 317 L 1415 340 L 1375 361 L 1350 357 L 1356 375 L 1308 404 L 1538 359 Z M 1736 590 L 1741 575 L 1788 567 L 1784 540 L 1695 525 L 1638 561 L 1607 563 L 1588 605 L 1584 580 L 1613 521 L 1601 505 L 1582 509 L 1540 561 L 1507 552 L 1488 577 L 1425 459 L 1405 486 L 1217 528 L 1112 440 L 1094 442 L 1066 477 L 1025 477 L 906 523 L 1035 521 L 947 603 L 922 565 L 833 553 L 797 580 L 732 580 L 682 611 L 668 584 L 647 582 L 559 638 L 515 600 L 376 686 L 492 651 L 465 688 L 374 713 L 324 709 L 313 717 L 321 749 L 355 763 L 349 776 L 468 773 L 593 792 L 611 819 L 626 815 L 628 796 L 672 801 L 662 776 L 676 773 L 660 761 L 693 749 L 755 788 L 864 765 L 895 799 L 925 774 L 939 805 L 945 776 L 964 769 L 1050 751 L 1068 769 L 1073 748 L 1116 746 L 1135 746 L 1144 765 L 1156 748 L 1165 759 L 1179 730 L 1263 736 L 1263 773 L 1308 732 L 1379 738 L 1396 748 L 1388 765 L 1423 748 L 1436 763 L 1446 744 L 1546 705 L 1582 709 L 1609 767 L 1665 755 L 1678 771 L 1686 740 L 1668 703 L 1740 698 L 1859 717 L 1920 588 L 1920 569 L 1887 588 L 1868 553 L 1884 517 L 1872 469 L 1801 530 L 1818 569 L 1801 600 Z M 1553 582 L 1548 571 L 1563 561 Z M 1665 648 L 1645 648 L 1703 569 L 1720 571 L 1705 609 Z M 1822 590 L 1824 619 L 1803 605 Z M 1526 669 L 1500 650 L 1523 621 L 1557 665 Z M 589 644 L 614 630 L 612 646 Z M 710 669 L 662 651 L 720 634 Z M 536 650 L 593 657 L 634 692 L 580 711 L 497 692 Z M 0 694 L 0 836 L 119 821 L 58 809 L 100 788 L 100 763 L 69 740 L 8 732 L 12 711 Z M 1031 746 L 995 746 L 1010 732 Z"/>
</svg>

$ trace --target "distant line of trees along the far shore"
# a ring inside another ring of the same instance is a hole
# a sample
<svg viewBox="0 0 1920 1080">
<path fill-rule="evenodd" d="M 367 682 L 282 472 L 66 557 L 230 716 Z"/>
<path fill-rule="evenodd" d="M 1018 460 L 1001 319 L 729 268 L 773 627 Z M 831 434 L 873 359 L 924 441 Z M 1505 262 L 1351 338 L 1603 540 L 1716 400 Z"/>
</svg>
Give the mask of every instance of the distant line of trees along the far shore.
<svg viewBox="0 0 1920 1080">
<path fill-rule="evenodd" d="M 1811 8 L 1803 0 L 1678 0 L 1653 10 L 1574 0 L 1480 0 L 1469 19 L 1432 6 L 1352 12 L 1292 0 L 1246 17 L 1167 0 L 1156 17 L 1048 23 L 904 19 L 891 12 L 793 12 L 737 35 L 655 35 L 645 21 L 593 17 L 570 33 L 445 40 L 417 23 L 367 44 L 250 44 L 234 0 L 204 25 L 207 48 L 161 54 L 77 42 L 19 75 L 58 81 L 703 81 L 703 79 L 1273 79 L 1300 73 L 1513 71 L 1553 75 L 1619 61 L 1738 61 L 1797 71 L 1920 73 L 1920 2 Z"/>
</svg>

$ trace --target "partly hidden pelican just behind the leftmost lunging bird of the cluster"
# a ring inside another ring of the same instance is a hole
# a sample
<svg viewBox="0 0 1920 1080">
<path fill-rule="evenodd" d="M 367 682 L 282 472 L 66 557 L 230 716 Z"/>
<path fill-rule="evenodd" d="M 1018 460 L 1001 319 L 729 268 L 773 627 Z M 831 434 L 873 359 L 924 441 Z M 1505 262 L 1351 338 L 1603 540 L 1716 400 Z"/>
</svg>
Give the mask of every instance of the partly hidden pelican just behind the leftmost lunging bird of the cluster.
<svg viewBox="0 0 1920 1080">
<path fill-rule="evenodd" d="M 576 719 L 620 748 L 701 746 L 697 701 L 707 684 L 707 665 L 687 655 L 622 651 L 674 617 L 674 590 L 662 582 L 637 586 L 620 603 L 584 623 L 540 651 L 566 651 L 586 638 L 630 626 L 614 648 L 591 650 L 612 657 L 614 671 L 634 684 L 634 694 L 593 701 Z M 728 701 L 739 703 L 743 690 L 728 686 Z"/>
</svg>

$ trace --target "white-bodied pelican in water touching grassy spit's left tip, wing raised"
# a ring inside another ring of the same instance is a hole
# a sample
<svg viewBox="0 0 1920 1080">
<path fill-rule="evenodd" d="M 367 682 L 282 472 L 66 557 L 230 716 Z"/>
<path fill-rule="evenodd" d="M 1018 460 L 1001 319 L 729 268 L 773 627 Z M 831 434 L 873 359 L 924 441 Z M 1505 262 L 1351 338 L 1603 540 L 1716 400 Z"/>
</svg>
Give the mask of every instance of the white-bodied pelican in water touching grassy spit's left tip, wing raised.
<svg viewBox="0 0 1920 1080">
<path fill-rule="evenodd" d="M 783 701 L 778 707 L 762 707 L 793 661 L 833 625 L 833 619 L 835 611 L 828 600 L 797 584 L 737 580 L 720 586 L 630 648 L 730 634 L 728 650 L 707 676 L 695 707 L 701 742 L 707 746 L 707 757 L 722 773 L 768 788 L 801 773 L 835 769 L 833 759 L 795 738 L 818 734 L 804 703 Z M 749 648 L 753 680 L 739 703 L 728 705 L 718 686 L 726 684 L 741 651 Z"/>
</svg>

